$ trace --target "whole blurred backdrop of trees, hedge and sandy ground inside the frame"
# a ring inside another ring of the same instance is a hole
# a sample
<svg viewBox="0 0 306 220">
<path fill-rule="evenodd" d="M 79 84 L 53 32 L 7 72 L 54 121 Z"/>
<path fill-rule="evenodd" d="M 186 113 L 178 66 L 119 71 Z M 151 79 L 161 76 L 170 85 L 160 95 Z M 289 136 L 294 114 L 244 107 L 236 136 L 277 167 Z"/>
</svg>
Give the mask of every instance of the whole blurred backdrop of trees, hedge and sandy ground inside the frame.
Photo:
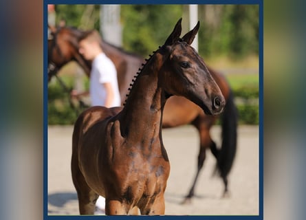
<svg viewBox="0 0 306 220">
<path fill-rule="evenodd" d="M 166 214 L 260 214 L 259 5 L 47 6 L 48 25 L 58 28 L 58 32 L 63 27 L 98 30 L 103 41 L 142 58 L 147 58 L 149 54 L 157 50 L 158 46 L 164 44 L 179 18 L 183 18 L 182 33 L 188 32 L 197 21 L 200 21 L 199 33 L 193 47 L 209 67 L 226 77 L 234 93 L 234 103 L 239 111 L 239 134 L 237 157 L 235 157 L 237 160 L 235 160 L 232 175 L 229 176 L 232 179 L 230 188 L 233 189 L 233 197 L 228 200 L 219 199 L 217 196 L 219 190 L 212 186 L 219 186 L 220 181 L 209 182 L 210 178 L 207 175 L 212 172 L 214 162 L 209 162 L 209 158 L 213 157 L 210 157 L 210 151 L 208 151 L 208 162 L 204 166 L 204 171 L 207 170 L 208 173 L 203 172 L 202 183 L 198 187 L 203 190 L 199 192 L 192 206 L 182 208 L 176 200 L 179 200 L 181 194 L 184 194 L 187 186 L 181 185 L 177 189 L 175 186 L 178 186 L 177 181 L 181 176 L 184 176 L 181 184 L 186 185 L 189 182 L 187 179 L 193 178 L 192 175 L 196 168 L 196 151 L 199 150 L 198 138 L 194 138 L 197 137 L 197 132 L 190 128 L 191 126 L 186 125 L 182 126 L 182 130 L 174 130 L 172 136 L 171 131 L 164 129 L 166 131 L 163 130 L 163 140 L 167 146 L 172 171 L 165 195 Z M 49 31 L 52 32 L 52 28 Z M 52 40 L 57 38 L 55 42 L 59 42 L 60 34 L 56 36 L 52 34 L 54 32 L 51 34 L 50 32 L 48 39 L 54 42 Z M 69 36 L 69 39 L 72 37 Z M 135 68 L 135 73 L 137 69 L 138 66 Z M 79 110 L 85 107 L 70 100 L 69 90 L 73 88 L 88 90 L 89 79 L 75 61 L 59 69 L 57 76 L 63 80 L 67 89 L 56 77 L 47 83 L 47 214 L 78 214 L 76 193 L 73 186 L 70 186 L 68 162 L 71 157 L 71 152 L 69 152 L 71 147 L 69 146 L 71 145 L 72 124 L 81 112 L 76 112 L 74 107 L 80 108 Z M 87 104 L 87 99 L 83 99 L 83 102 Z M 231 118 L 234 118 L 234 115 Z M 217 146 L 221 146 L 221 126 L 219 124 L 221 123 L 217 122 L 217 126 L 210 131 Z M 195 136 L 192 136 L 193 133 Z M 182 149 L 175 142 L 178 137 L 188 142 L 188 144 L 182 144 Z M 187 153 L 190 153 L 189 159 L 186 157 Z M 182 155 L 186 161 L 184 161 L 184 166 L 179 166 L 182 163 L 182 159 L 179 159 Z M 175 164 L 176 161 L 178 164 Z M 206 203 L 207 210 L 204 210 L 204 203 Z M 177 210 L 180 211 L 177 212 Z"/>
</svg>

